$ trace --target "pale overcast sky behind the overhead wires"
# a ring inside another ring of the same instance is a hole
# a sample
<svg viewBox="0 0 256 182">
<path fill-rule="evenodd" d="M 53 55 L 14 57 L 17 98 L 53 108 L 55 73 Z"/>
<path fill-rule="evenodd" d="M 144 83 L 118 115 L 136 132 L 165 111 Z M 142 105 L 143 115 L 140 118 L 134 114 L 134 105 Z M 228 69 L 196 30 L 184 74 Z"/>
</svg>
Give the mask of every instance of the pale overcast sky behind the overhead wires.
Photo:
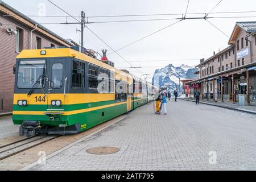
<svg viewBox="0 0 256 182">
<path fill-rule="evenodd" d="M 67 15 L 63 11 L 57 9 L 46 0 L 4 0 L 10 6 L 21 11 L 25 15 L 38 15 L 40 3 L 46 5 L 46 15 Z M 81 10 L 84 10 L 86 16 L 100 15 L 138 15 L 138 14 L 175 14 L 185 13 L 187 0 L 52 0 L 68 13 L 74 16 L 80 16 Z M 187 13 L 209 13 L 220 0 L 191 0 L 189 2 Z M 223 0 L 213 13 L 227 11 L 256 11 L 255 0 Z M 256 16 L 256 13 L 240 13 L 240 14 L 210 14 L 212 16 Z M 203 15 L 187 15 L 189 17 L 203 17 Z M 181 15 L 166 16 L 139 16 L 139 17 L 122 17 L 122 18 L 89 18 L 89 22 L 101 22 L 109 20 L 135 20 L 135 19 L 163 19 L 163 18 L 181 18 Z M 56 23 L 65 22 L 65 18 L 47 18 L 32 17 L 39 23 Z M 228 36 L 231 35 L 236 22 L 254 21 L 255 18 L 216 18 L 209 19 L 215 26 L 220 28 Z M 106 43 L 114 49 L 126 46 L 144 36 L 158 31 L 177 20 L 157 20 L 146 22 L 122 22 L 122 23 L 94 23 L 88 24 L 88 27 L 100 36 Z M 76 22 L 72 18 L 68 18 L 68 22 Z M 56 34 L 63 38 L 70 38 L 77 43 L 80 42 L 80 34 L 76 32 L 76 28 L 80 29 L 78 24 L 45 24 Z M 168 64 L 175 66 L 181 64 L 197 65 L 199 59 L 213 55 L 213 51 L 223 49 L 228 46 L 228 37 L 214 28 L 204 19 L 183 20 L 174 26 L 158 32 L 146 39 L 143 39 L 132 46 L 126 47 L 118 53 L 134 66 L 147 68 L 139 68 L 143 73 L 154 73 L 155 69 L 163 68 Z M 96 38 L 91 32 L 85 30 L 85 47 L 101 52 L 101 49 L 108 49 L 104 43 Z M 115 53 L 108 56 L 109 60 L 115 63 L 115 67 L 128 69 L 136 75 L 141 75 L 129 64 L 125 63 Z M 176 61 L 157 61 L 157 60 L 175 60 Z M 185 60 L 196 59 L 196 60 Z M 156 60 L 147 61 L 145 60 Z M 149 68 L 148 68 L 149 67 Z"/>
</svg>

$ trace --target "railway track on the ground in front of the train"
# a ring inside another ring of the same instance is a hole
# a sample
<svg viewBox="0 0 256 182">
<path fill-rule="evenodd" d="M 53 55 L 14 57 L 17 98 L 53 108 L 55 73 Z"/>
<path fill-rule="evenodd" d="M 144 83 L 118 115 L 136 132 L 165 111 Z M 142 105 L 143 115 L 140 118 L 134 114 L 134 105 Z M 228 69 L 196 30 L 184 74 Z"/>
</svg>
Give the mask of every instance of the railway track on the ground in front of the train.
<svg viewBox="0 0 256 182">
<path fill-rule="evenodd" d="M 46 143 L 49 140 L 60 137 L 59 135 L 38 135 L 35 137 L 19 140 L 14 143 L 6 144 L 0 147 L 0 160 L 9 158 L 15 154 L 28 150 L 32 147 Z"/>
</svg>

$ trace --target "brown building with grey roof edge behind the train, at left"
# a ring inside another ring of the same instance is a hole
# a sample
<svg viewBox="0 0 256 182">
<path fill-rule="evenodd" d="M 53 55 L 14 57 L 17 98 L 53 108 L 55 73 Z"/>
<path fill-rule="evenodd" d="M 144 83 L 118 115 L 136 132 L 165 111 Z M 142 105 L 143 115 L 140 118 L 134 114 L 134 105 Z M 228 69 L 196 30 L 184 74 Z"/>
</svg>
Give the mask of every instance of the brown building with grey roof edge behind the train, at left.
<svg viewBox="0 0 256 182">
<path fill-rule="evenodd" d="M 71 47 L 74 44 L 0 1 L 0 115 L 13 110 L 13 67 L 16 56 L 23 49 Z"/>
</svg>

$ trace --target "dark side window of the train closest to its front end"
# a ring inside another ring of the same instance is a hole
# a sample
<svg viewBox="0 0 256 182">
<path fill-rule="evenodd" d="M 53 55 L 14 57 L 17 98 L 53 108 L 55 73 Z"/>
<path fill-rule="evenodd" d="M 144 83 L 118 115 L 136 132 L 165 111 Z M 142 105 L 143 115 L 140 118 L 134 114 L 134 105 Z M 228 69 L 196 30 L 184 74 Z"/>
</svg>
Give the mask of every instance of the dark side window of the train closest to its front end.
<svg viewBox="0 0 256 182">
<path fill-rule="evenodd" d="M 85 64 L 80 61 L 73 60 L 72 68 L 72 87 L 84 88 Z"/>
</svg>

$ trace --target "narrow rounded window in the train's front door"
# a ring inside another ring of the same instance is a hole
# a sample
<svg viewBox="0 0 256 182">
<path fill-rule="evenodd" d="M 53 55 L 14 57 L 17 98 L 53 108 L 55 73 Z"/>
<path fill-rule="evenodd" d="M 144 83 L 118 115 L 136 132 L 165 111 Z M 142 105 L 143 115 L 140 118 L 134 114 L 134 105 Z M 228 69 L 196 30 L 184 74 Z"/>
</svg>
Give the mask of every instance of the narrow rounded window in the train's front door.
<svg viewBox="0 0 256 182">
<path fill-rule="evenodd" d="M 63 84 L 63 64 L 55 63 L 52 65 L 51 86 L 59 89 Z"/>
</svg>

